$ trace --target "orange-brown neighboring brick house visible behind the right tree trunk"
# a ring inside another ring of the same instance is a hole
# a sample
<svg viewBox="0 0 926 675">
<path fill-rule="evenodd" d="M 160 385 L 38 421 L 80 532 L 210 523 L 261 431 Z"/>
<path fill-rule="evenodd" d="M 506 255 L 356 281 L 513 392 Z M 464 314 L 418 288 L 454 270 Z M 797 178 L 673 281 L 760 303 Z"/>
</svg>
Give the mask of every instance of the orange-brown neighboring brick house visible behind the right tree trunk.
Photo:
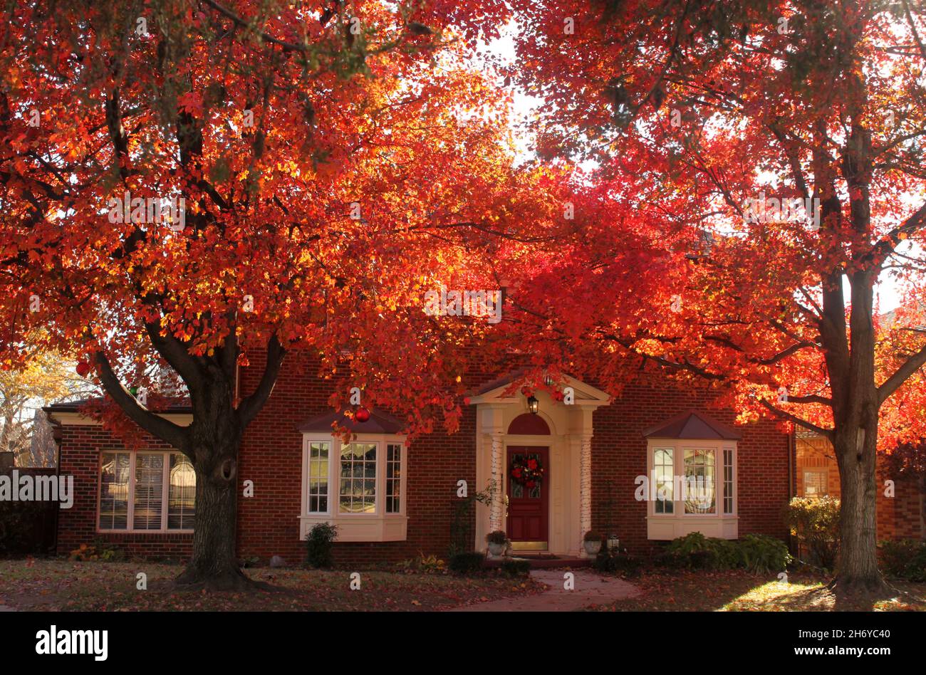
<svg viewBox="0 0 926 675">
<path fill-rule="evenodd" d="M 840 494 L 839 468 L 832 444 L 812 432 L 798 431 L 795 437 L 797 496 L 819 497 Z M 879 456 L 879 459 L 881 457 Z M 920 539 L 926 531 L 920 508 L 923 495 L 915 480 L 890 475 L 879 461 L 878 466 L 878 539 Z M 884 481 L 894 481 L 894 495 L 889 496 Z"/>
</svg>

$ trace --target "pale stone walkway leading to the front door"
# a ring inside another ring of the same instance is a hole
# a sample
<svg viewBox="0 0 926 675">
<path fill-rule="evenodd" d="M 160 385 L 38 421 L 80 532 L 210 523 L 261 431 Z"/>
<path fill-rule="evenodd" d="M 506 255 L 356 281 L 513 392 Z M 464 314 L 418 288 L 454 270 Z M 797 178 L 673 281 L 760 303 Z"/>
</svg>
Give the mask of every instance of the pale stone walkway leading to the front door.
<svg viewBox="0 0 926 675">
<path fill-rule="evenodd" d="M 588 569 L 572 569 L 575 587 L 567 591 L 563 584 L 565 569 L 532 569 L 531 577 L 549 586 L 543 593 L 524 597 L 510 597 L 456 607 L 454 612 L 569 612 L 593 605 L 607 605 L 615 600 L 634 597 L 640 590 L 632 583 L 603 577 Z"/>
</svg>

